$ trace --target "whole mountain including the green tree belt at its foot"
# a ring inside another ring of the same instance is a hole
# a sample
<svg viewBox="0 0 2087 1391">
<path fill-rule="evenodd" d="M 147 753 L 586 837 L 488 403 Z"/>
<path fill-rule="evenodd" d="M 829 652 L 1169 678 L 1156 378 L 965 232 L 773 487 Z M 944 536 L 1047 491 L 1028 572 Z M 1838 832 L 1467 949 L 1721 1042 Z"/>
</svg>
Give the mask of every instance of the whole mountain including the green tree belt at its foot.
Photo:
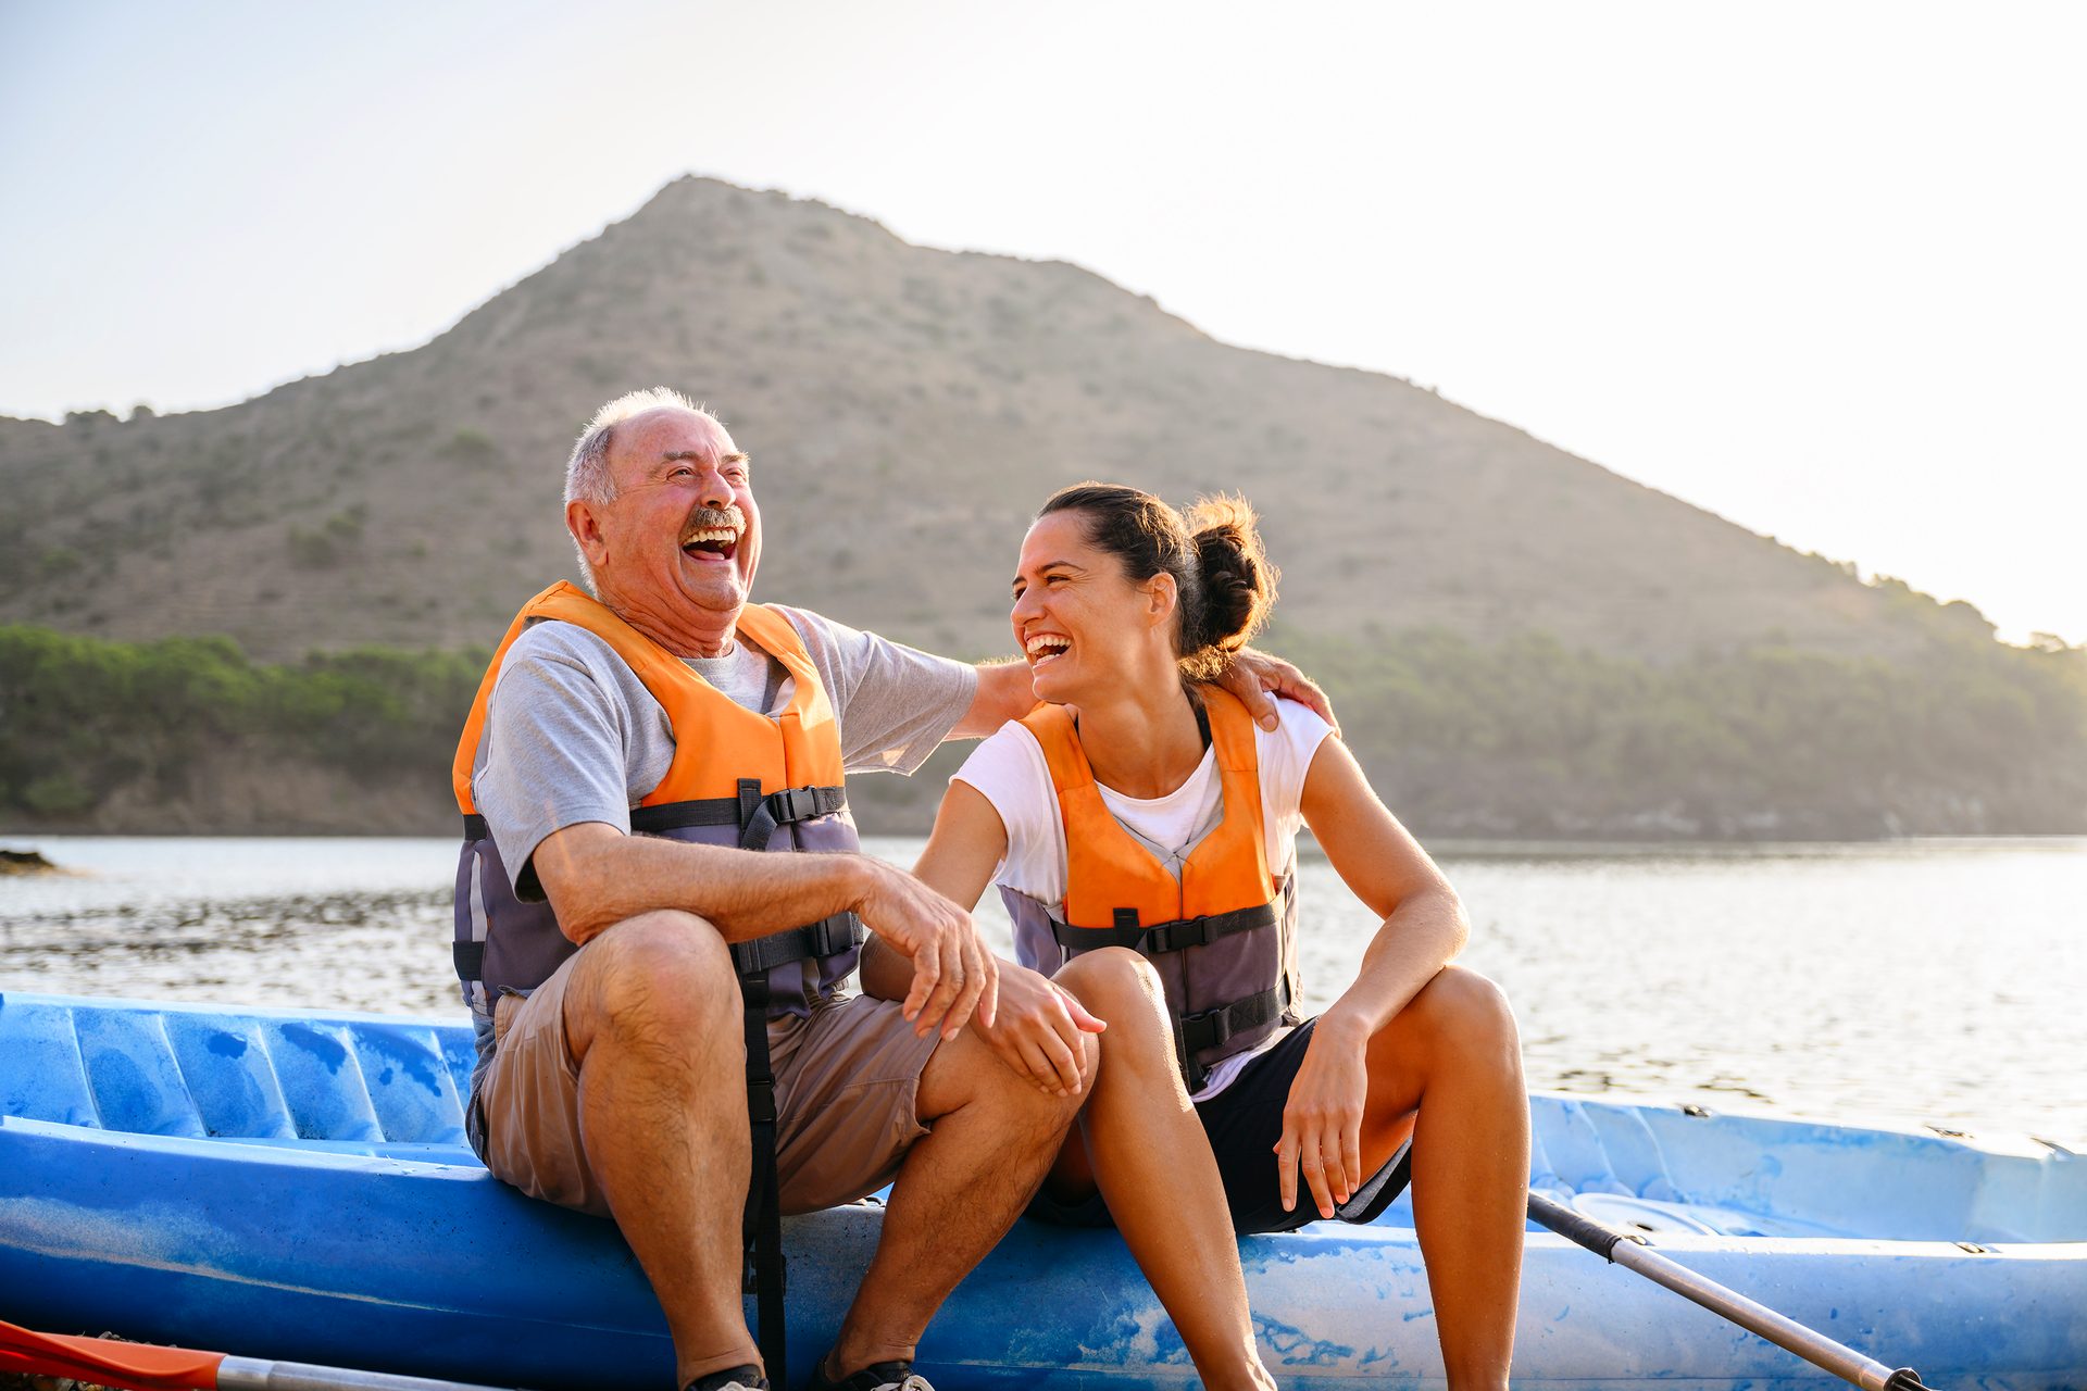
<svg viewBox="0 0 2087 1391">
<path fill-rule="evenodd" d="M 954 655 L 1008 649 L 1060 484 L 1246 492 L 1273 644 L 1434 834 L 2087 830 L 2079 651 L 1077 267 L 707 179 L 411 352 L 0 417 L 0 828 L 447 830 L 470 653 L 572 574 L 580 421 L 655 382 L 755 459 L 758 596 Z M 885 828 L 937 795 L 858 788 Z"/>
</svg>

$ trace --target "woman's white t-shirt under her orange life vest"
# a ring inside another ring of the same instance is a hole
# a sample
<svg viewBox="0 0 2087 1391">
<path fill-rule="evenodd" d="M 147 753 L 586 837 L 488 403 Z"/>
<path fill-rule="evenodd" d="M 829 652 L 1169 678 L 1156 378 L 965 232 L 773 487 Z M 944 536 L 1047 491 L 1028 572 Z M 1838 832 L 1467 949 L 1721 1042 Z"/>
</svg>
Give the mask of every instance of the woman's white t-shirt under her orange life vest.
<svg viewBox="0 0 2087 1391">
<path fill-rule="evenodd" d="M 1304 799 L 1304 778 L 1311 772 L 1319 742 L 1332 728 L 1317 713 L 1294 701 L 1275 703 L 1275 732 L 1254 726 L 1254 757 L 1261 763 L 1261 813 L 1267 836 L 1269 874 L 1277 882 L 1296 874 L 1296 834 L 1304 824 L 1298 805 Z M 1044 747 L 1027 726 L 1010 722 L 970 751 L 952 782 L 968 782 L 993 803 L 1008 830 L 1008 853 L 993 870 L 993 882 L 1014 893 L 1064 909 L 1064 822 L 1058 815 L 1058 792 L 1050 782 Z M 1217 776 L 1217 753 L 1204 749 L 1202 763 L 1188 782 L 1154 799 L 1125 797 L 1096 782 L 1102 805 L 1131 836 L 1152 851 L 1179 878 L 1181 861 L 1223 820 L 1223 782 Z M 1037 961 L 1023 961 L 1035 970 Z M 1250 1053 L 1227 1057 L 1210 1070 L 1196 1101 L 1221 1093 L 1248 1059 L 1275 1047 L 1286 1030 Z"/>
</svg>

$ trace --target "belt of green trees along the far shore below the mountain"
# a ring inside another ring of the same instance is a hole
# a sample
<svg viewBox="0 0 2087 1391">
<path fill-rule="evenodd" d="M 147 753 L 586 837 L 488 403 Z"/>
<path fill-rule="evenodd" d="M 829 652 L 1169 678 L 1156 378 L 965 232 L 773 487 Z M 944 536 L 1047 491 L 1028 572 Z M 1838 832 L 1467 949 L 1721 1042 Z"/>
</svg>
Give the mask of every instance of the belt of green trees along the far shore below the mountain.
<svg viewBox="0 0 2087 1391">
<path fill-rule="evenodd" d="M 1542 636 L 1281 644 L 1421 834 L 2087 830 L 2079 649 L 1958 644 L 1893 665 L 1774 646 L 1651 665 Z M 351 651 L 261 665 L 223 638 L 0 628 L 0 826 L 451 832 L 449 757 L 482 663 Z M 925 830 L 958 757 L 858 778 L 862 828 Z"/>
</svg>

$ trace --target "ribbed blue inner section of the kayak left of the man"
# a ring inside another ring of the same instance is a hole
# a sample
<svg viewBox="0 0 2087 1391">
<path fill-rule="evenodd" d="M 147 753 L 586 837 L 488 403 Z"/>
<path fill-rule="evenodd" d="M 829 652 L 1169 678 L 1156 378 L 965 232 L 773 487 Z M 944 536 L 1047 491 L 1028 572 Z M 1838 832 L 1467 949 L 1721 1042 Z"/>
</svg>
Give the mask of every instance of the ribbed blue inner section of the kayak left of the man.
<svg viewBox="0 0 2087 1391">
<path fill-rule="evenodd" d="M 0 995 L 0 1109 L 129 1134 L 463 1145 L 467 1055 L 442 1032 L 459 1030 Z"/>
</svg>

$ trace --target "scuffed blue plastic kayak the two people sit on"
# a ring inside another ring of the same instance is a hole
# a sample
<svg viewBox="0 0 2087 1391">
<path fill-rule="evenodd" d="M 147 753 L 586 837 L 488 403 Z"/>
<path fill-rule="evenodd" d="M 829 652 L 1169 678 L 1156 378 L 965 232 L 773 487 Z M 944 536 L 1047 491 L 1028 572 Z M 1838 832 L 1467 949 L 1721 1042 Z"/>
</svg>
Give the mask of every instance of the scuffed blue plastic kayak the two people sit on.
<svg viewBox="0 0 2087 1391">
<path fill-rule="evenodd" d="M 463 1143 L 465 1024 L 0 995 L 0 1318 L 501 1387 L 670 1387 L 609 1222 Z M 1532 1185 L 1930 1387 L 2087 1387 L 2087 1155 L 1532 1099 Z M 881 1210 L 785 1224 L 789 1339 L 833 1339 Z M 1286 1387 L 1440 1385 L 1407 1199 L 1240 1243 Z M 749 1310 L 751 1312 L 751 1310 Z M 920 1345 L 943 1391 L 1192 1387 L 1114 1233 L 1018 1224 Z M 1841 1385 L 1542 1230 L 1515 1383 Z"/>
</svg>

